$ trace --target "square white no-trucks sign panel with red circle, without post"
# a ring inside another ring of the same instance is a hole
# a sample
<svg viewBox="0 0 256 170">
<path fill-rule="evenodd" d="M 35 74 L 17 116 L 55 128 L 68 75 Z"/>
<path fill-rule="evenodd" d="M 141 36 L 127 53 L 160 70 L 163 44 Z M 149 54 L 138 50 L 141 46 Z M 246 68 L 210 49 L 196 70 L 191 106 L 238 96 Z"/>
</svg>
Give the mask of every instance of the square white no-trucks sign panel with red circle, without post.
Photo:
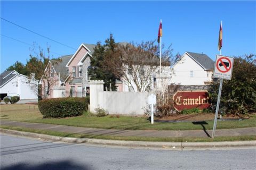
<svg viewBox="0 0 256 170">
<path fill-rule="evenodd" d="M 231 80 L 234 57 L 217 55 L 214 65 L 213 77 Z"/>
</svg>

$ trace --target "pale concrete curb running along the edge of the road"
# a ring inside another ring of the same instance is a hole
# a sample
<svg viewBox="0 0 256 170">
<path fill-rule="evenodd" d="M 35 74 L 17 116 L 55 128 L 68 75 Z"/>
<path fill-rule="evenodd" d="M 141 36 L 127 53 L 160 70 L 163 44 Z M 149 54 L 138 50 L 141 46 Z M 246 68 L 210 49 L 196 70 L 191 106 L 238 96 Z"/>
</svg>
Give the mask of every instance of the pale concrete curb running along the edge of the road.
<svg viewBox="0 0 256 170">
<path fill-rule="evenodd" d="M 94 145 L 125 146 L 125 147 L 152 147 L 152 148 L 224 148 L 224 147 L 255 147 L 256 141 L 225 141 L 225 142 L 147 142 L 147 141 L 122 141 L 103 140 L 89 138 L 55 137 L 52 135 L 21 132 L 14 130 L 0 129 L 0 132 L 19 135 L 22 137 L 40 138 L 51 141 L 62 141 L 70 143 L 90 143 Z"/>
</svg>

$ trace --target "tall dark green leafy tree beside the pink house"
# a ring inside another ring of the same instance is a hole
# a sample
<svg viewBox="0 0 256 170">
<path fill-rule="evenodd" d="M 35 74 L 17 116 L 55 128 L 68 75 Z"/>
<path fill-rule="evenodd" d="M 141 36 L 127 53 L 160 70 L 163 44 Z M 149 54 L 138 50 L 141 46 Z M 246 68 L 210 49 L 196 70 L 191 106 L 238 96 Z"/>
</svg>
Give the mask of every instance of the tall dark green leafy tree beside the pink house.
<svg viewBox="0 0 256 170">
<path fill-rule="evenodd" d="M 101 43 L 98 42 L 97 46 L 94 48 L 89 75 L 91 80 L 104 80 L 104 86 L 107 87 L 108 90 L 110 90 L 111 84 L 111 90 L 115 91 L 116 77 L 105 65 L 106 56 L 111 56 L 116 49 L 116 43 L 112 34 L 106 39 L 105 43 L 105 45 L 101 45 Z"/>
</svg>

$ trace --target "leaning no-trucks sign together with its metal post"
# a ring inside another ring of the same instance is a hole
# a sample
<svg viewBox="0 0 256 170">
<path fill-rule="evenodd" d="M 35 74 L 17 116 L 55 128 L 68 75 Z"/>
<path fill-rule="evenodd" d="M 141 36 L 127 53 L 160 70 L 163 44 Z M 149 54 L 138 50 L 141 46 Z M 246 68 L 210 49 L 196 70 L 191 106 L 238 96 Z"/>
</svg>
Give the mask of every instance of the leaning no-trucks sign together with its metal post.
<svg viewBox="0 0 256 170">
<path fill-rule="evenodd" d="M 218 112 L 219 112 L 219 106 L 220 106 L 220 96 L 221 96 L 223 79 L 231 80 L 233 63 L 234 63 L 233 57 L 222 56 L 222 55 L 216 56 L 213 77 L 220 79 L 220 87 L 219 87 L 219 94 L 218 94 L 218 100 L 217 100 L 215 118 L 214 118 L 213 130 L 212 130 L 212 139 L 214 138 L 214 134 L 217 126 L 217 118 L 218 118 Z"/>
</svg>

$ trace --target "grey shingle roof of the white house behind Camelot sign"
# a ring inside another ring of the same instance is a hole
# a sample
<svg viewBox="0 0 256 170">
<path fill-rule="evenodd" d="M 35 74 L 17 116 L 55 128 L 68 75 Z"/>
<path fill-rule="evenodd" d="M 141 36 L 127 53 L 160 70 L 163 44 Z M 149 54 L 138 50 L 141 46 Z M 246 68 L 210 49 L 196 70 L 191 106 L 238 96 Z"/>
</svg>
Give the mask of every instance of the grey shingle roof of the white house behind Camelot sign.
<svg viewBox="0 0 256 170">
<path fill-rule="evenodd" d="M 187 52 L 191 57 L 194 58 L 199 64 L 201 64 L 206 70 L 213 70 L 214 61 L 206 54 Z"/>
</svg>

